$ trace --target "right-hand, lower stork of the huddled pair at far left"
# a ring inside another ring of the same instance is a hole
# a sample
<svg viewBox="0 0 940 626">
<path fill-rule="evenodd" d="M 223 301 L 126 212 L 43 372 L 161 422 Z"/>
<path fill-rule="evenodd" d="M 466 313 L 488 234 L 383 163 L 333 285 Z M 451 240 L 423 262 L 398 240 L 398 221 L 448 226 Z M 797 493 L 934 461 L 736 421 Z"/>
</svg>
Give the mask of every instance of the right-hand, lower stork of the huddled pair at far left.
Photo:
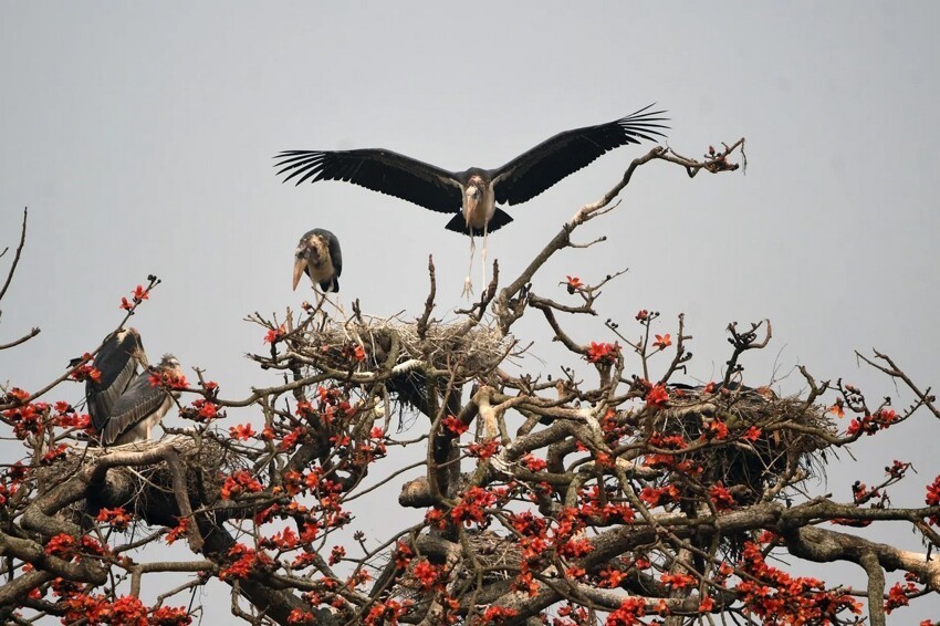
<svg viewBox="0 0 940 626">
<path fill-rule="evenodd" d="M 98 429 L 103 446 L 121 446 L 150 439 L 150 431 L 173 408 L 174 397 L 177 395 L 150 384 L 153 376 L 179 377 L 182 376 L 182 369 L 174 355 L 165 354 L 159 365 L 137 375 L 127 390 L 117 398 L 103 428 Z"/>
</svg>

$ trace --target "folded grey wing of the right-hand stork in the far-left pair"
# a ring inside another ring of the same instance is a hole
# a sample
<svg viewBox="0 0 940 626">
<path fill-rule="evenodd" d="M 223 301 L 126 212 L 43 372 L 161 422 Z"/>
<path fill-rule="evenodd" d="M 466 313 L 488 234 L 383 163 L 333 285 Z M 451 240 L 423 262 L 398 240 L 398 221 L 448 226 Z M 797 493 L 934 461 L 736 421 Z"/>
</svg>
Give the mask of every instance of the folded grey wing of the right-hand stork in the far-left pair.
<svg viewBox="0 0 940 626">
<path fill-rule="evenodd" d="M 111 446 L 142 441 L 148 427 L 153 428 L 173 407 L 169 392 L 150 385 L 150 373 L 139 374 L 124 392 L 112 409 L 111 419 L 104 426 L 102 444 Z"/>
</svg>

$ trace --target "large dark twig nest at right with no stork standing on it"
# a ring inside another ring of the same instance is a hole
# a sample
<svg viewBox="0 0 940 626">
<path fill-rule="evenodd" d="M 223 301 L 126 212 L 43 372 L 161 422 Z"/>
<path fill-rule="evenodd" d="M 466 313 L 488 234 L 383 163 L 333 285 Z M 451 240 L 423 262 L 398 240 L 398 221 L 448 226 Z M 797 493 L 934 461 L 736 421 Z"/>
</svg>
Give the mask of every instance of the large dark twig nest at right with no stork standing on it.
<svg viewBox="0 0 940 626">
<path fill-rule="evenodd" d="M 722 437 L 723 425 L 744 438 Z M 710 445 L 682 457 L 702 468 L 701 482 L 759 499 L 767 486 L 790 486 L 824 471 L 822 450 L 834 434 L 825 411 L 800 400 L 780 398 L 769 389 L 685 392 L 670 398 L 656 416 L 655 428 L 666 436 Z"/>
</svg>

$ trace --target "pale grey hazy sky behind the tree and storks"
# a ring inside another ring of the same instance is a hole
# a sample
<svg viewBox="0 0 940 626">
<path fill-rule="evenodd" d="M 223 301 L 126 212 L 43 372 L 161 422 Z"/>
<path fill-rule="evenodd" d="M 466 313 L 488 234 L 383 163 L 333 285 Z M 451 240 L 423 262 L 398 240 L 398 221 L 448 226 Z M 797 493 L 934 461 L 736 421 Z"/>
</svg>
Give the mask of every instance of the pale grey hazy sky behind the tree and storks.
<svg viewBox="0 0 940 626">
<path fill-rule="evenodd" d="M 272 156 L 386 147 L 449 169 L 495 167 L 657 102 L 677 152 L 745 136 L 749 168 L 637 173 L 620 207 L 581 233 L 608 241 L 536 278 L 536 292 L 564 298 L 565 274 L 630 268 L 577 341 L 610 341 L 600 320 L 626 327 L 638 309 L 660 311 L 659 332 L 675 333 L 685 312 L 690 375 L 708 380 L 728 357 L 728 322 L 770 317 L 771 348 L 745 361 L 752 383 L 804 364 L 897 397 L 856 364 L 853 349 L 873 346 L 922 385 L 940 383 L 940 6 L 655 4 L 2 1 L 0 249 L 15 244 L 24 206 L 30 233 L 0 343 L 42 334 L 0 353 L 0 380 L 35 388 L 58 376 L 155 273 L 164 283 L 133 321 L 148 352 L 175 352 L 243 397 L 271 378 L 242 357 L 264 349 L 264 332 L 242 320 L 311 298 L 290 283 L 296 240 L 314 227 L 342 241 L 344 302 L 419 314 L 434 254 L 447 316 L 468 260 L 448 216 L 346 184 L 282 185 Z M 617 149 L 510 208 L 515 221 L 490 239 L 503 275 L 648 148 Z M 535 353 L 545 363 L 529 367 L 557 371 L 552 346 Z M 798 390 L 797 376 L 779 388 Z M 61 396 L 77 400 L 80 388 Z M 831 467 L 819 489 L 848 499 L 852 481 L 877 482 L 898 458 L 920 473 L 894 503 L 922 504 L 938 437 L 919 415 L 856 446 L 859 462 Z M 936 617 L 938 604 L 902 616 Z"/>
</svg>

